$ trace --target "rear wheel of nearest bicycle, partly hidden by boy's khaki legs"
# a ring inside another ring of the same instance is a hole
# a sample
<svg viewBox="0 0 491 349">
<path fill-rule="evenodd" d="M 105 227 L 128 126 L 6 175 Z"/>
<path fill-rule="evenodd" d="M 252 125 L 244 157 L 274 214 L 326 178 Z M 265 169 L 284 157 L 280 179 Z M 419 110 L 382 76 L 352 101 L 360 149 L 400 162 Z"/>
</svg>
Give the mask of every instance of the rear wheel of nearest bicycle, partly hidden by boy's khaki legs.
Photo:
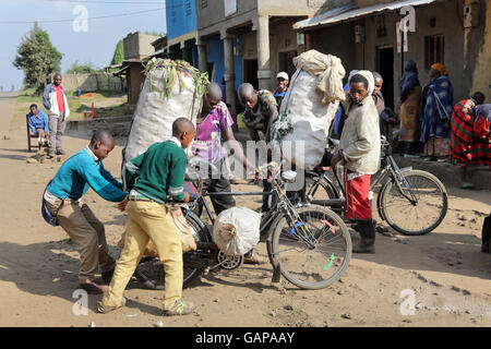
<svg viewBox="0 0 491 349">
<path fill-rule="evenodd" d="M 188 212 L 183 212 L 184 216 Z M 193 230 L 193 238 L 196 242 L 208 242 L 208 234 L 203 222 L 192 212 L 185 217 L 188 225 Z M 200 258 L 201 251 L 190 251 L 182 255 L 183 258 L 183 288 L 191 286 L 203 274 L 202 268 L 196 268 L 187 265 L 187 258 Z M 149 289 L 164 289 L 165 285 L 165 272 L 164 265 L 158 258 L 145 258 L 137 265 L 135 270 L 135 277 L 143 282 L 146 288 Z"/>
</svg>

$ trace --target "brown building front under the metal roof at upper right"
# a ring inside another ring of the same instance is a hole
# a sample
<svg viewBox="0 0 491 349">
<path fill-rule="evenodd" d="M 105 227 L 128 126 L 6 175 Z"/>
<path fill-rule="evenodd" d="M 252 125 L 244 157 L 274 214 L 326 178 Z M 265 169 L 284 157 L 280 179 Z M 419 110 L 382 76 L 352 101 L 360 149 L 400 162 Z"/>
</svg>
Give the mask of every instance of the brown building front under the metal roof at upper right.
<svg viewBox="0 0 491 349">
<path fill-rule="evenodd" d="M 398 23 L 408 20 L 407 37 Z M 339 57 L 349 72 L 378 71 L 383 94 L 394 108 L 399 100 L 404 62 L 414 60 L 421 84 L 429 82 L 431 64 L 450 72 L 454 100 L 481 91 L 491 97 L 491 9 L 487 1 L 405 0 L 344 1 L 318 16 L 295 24 L 304 34 L 306 48 Z"/>
</svg>

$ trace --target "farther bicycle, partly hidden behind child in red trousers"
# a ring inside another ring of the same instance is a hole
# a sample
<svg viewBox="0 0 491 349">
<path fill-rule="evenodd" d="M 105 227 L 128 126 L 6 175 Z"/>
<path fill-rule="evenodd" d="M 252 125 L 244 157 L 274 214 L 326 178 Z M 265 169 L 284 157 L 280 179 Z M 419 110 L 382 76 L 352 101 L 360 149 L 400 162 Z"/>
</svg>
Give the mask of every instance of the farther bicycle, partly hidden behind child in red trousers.
<svg viewBox="0 0 491 349">
<path fill-rule="evenodd" d="M 337 144 L 333 140 L 331 142 L 333 151 Z M 399 168 L 384 137 L 381 155 L 381 170 L 372 177 L 370 184 L 371 200 L 380 188 L 376 209 L 381 219 L 407 236 L 421 236 L 434 230 L 445 218 L 448 208 L 448 195 L 443 183 L 427 171 Z M 343 215 L 345 192 L 338 172 L 323 167 L 308 174 L 313 183 L 307 191 L 307 202 L 332 207 Z"/>
</svg>

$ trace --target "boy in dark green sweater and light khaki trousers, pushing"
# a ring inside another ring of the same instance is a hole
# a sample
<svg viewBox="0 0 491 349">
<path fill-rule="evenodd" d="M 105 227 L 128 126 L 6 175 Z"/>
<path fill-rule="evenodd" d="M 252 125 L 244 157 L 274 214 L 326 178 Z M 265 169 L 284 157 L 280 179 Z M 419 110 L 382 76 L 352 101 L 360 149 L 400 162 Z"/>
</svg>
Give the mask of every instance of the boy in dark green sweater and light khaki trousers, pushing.
<svg viewBox="0 0 491 349">
<path fill-rule="evenodd" d="M 127 168 L 124 173 L 130 190 L 124 248 L 98 308 L 100 313 L 125 304 L 122 293 L 149 239 L 156 245 L 166 274 L 164 315 L 185 315 L 194 310 L 193 303 L 181 300 L 181 233 L 166 205 L 169 196 L 175 201 L 189 202 L 189 194 L 183 190 L 188 164 L 183 149 L 193 141 L 194 133 L 193 123 L 179 118 L 172 123 L 170 140 L 151 145 L 144 154 L 130 161 L 132 168 Z"/>
</svg>

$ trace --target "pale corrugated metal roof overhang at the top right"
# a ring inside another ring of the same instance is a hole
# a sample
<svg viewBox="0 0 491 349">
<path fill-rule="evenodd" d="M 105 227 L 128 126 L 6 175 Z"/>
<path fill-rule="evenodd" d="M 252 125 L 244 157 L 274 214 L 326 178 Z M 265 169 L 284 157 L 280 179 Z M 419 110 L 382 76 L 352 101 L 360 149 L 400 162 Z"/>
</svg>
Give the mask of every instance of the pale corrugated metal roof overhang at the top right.
<svg viewBox="0 0 491 349">
<path fill-rule="evenodd" d="M 336 8 L 324 12 L 323 14 L 316 15 L 312 19 L 300 21 L 294 24 L 294 29 L 312 29 L 315 26 L 324 26 L 328 24 L 334 24 L 338 22 L 348 21 L 362 15 L 368 15 L 382 11 L 394 11 L 402 9 L 404 7 L 417 7 L 421 4 L 430 4 L 436 0 L 400 0 L 388 3 L 380 3 L 371 7 L 358 8 L 356 9 L 355 3 L 349 5 Z M 355 9 L 355 10 L 354 10 Z"/>
</svg>

